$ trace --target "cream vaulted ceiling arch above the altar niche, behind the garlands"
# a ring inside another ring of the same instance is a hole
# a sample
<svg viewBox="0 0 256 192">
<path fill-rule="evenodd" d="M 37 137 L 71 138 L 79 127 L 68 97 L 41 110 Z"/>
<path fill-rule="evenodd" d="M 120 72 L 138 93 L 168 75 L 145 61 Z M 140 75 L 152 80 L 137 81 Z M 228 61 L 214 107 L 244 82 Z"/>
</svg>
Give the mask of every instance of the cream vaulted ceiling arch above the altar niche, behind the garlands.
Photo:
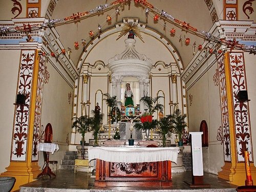
<svg viewBox="0 0 256 192">
<path fill-rule="evenodd" d="M 56 3 L 54 9 L 52 9 L 51 14 L 48 13 L 48 18 L 65 18 L 73 13 L 84 12 L 96 9 L 97 6 L 102 5 L 102 3 L 111 3 L 110 1 L 102 0 L 77 0 L 75 3 L 69 0 L 55 1 Z M 51 2 L 52 2 L 51 1 Z M 208 1 L 197 0 L 182 1 L 182 5 L 179 0 L 172 1 L 149 1 L 155 7 L 159 9 L 164 9 L 169 14 L 172 14 L 174 18 L 178 18 L 181 21 L 189 23 L 191 26 L 197 27 L 197 29 L 208 31 L 212 26 L 211 11 L 214 9 L 214 4 L 209 4 Z M 206 4 L 207 2 L 207 4 Z M 164 37 L 169 43 L 172 42 L 173 47 L 176 48 L 176 52 L 179 54 L 179 60 L 182 60 L 184 68 L 188 65 L 191 58 L 193 58 L 193 45 L 186 46 L 184 44 L 185 38 L 190 38 L 191 44 L 196 42 L 197 45 L 202 44 L 204 39 L 197 36 L 196 34 L 190 33 L 181 26 L 169 22 L 164 18 L 161 18 L 158 22 L 154 22 L 153 16 L 154 12 L 150 12 L 148 17 L 145 16 L 145 8 L 140 5 L 136 5 L 133 1 L 130 2 L 130 6 L 125 4 L 124 6 L 119 6 L 119 13 L 116 17 L 116 7 L 106 9 L 97 14 L 92 14 L 81 20 L 72 20 L 64 25 L 55 26 L 56 31 L 60 36 L 60 41 L 65 47 L 72 49 L 71 59 L 76 66 L 80 66 L 80 59 L 83 55 L 82 46 L 80 49 L 74 50 L 74 42 L 78 41 L 81 45 L 81 39 L 86 39 L 87 47 L 91 44 L 94 39 L 91 39 L 88 35 L 89 31 L 94 31 L 97 34 L 98 24 L 102 27 L 102 32 L 108 31 L 109 29 L 115 28 L 118 23 L 122 22 L 122 18 L 138 18 L 141 24 L 146 26 L 146 29 L 151 29 L 156 31 L 156 33 L 161 34 L 161 38 Z M 65 11 L 63 11 L 65 10 Z M 106 15 L 112 16 L 112 23 L 106 23 Z M 170 36 L 169 30 L 176 28 L 175 37 Z M 102 33 L 102 34 L 103 34 Z M 180 40 L 182 38 L 182 40 Z M 179 61 L 177 58 L 177 61 Z M 180 66 L 180 65 L 179 65 Z M 181 68 L 182 69 L 182 68 Z"/>
</svg>

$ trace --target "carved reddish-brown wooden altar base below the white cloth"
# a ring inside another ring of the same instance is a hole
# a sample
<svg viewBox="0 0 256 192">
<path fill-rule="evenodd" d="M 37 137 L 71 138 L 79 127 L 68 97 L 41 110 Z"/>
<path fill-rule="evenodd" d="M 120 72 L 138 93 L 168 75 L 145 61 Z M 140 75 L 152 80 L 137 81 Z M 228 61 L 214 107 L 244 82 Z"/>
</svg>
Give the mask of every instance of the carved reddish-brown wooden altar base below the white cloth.
<svg viewBox="0 0 256 192">
<path fill-rule="evenodd" d="M 114 163 L 96 160 L 95 186 L 172 186 L 171 161 Z"/>
</svg>

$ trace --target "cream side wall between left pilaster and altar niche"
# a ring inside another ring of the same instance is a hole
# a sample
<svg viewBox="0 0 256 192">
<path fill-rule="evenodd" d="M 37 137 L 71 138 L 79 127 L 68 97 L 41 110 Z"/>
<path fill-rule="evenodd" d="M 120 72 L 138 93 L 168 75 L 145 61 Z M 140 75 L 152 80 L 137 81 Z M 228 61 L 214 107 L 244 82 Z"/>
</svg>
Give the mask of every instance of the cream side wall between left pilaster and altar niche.
<svg viewBox="0 0 256 192">
<path fill-rule="evenodd" d="M 47 123 L 52 125 L 53 142 L 58 143 L 59 151 L 50 156 L 50 159 L 58 160 L 60 164 L 63 154 L 68 151 L 66 139 L 70 141 L 71 137 L 73 88 L 57 73 L 50 62 L 46 63 L 46 67 L 50 78 L 49 82 L 44 84 L 41 125 L 44 125 L 44 129 Z M 39 166 L 43 165 L 42 160 L 42 153 L 39 152 Z"/>
</svg>

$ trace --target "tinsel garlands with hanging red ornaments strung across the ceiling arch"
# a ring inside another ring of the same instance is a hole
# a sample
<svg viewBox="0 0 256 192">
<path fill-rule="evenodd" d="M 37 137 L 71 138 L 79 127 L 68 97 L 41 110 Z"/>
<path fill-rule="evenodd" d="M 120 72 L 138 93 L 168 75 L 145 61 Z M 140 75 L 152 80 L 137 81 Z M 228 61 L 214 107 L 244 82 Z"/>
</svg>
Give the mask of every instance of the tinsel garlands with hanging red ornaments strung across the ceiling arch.
<svg viewBox="0 0 256 192">
<path fill-rule="evenodd" d="M 134 3 L 137 6 L 143 6 L 145 8 L 146 16 L 147 16 L 148 12 L 153 12 L 155 14 L 155 16 L 153 17 L 155 23 L 158 23 L 158 20 L 160 18 L 165 20 L 165 22 L 166 22 L 166 20 L 168 20 L 168 22 L 173 23 L 176 26 L 180 27 L 184 31 L 184 33 L 185 33 L 185 31 L 190 31 L 191 33 L 194 33 L 197 36 L 200 36 L 208 41 L 218 43 L 219 45 L 224 45 L 224 46 L 226 46 L 226 48 L 230 48 L 231 50 L 237 49 L 237 50 L 243 50 L 245 52 L 249 52 L 250 54 L 252 54 L 252 53 L 256 54 L 255 46 L 242 45 L 242 44 L 239 44 L 239 41 L 237 41 L 236 39 L 226 40 L 223 38 L 216 37 L 209 32 L 199 30 L 196 27 L 191 26 L 189 23 L 187 23 L 185 21 L 179 20 L 178 18 L 174 18 L 172 15 L 168 14 L 163 9 L 158 9 L 157 7 L 148 3 L 147 0 L 134 0 Z M 0 27 L 0 35 L 3 36 L 3 35 L 7 35 L 8 33 L 27 32 L 28 33 L 28 41 L 31 41 L 32 38 L 29 33 L 31 33 L 34 30 L 52 28 L 52 27 L 59 26 L 59 25 L 65 25 L 67 23 L 78 23 L 82 19 L 88 18 L 90 15 L 99 14 L 100 12 L 104 12 L 104 10 L 109 10 L 111 8 L 115 8 L 115 13 L 116 13 L 116 18 L 117 18 L 118 14 L 120 12 L 119 7 L 124 6 L 126 4 L 128 4 L 130 6 L 131 0 L 117 0 L 117 1 L 114 1 L 109 4 L 99 5 L 99 6 L 96 6 L 95 9 L 92 9 L 92 10 L 89 10 L 86 12 L 81 12 L 81 13 L 79 13 L 79 12 L 73 13 L 73 15 L 67 16 L 65 18 L 48 20 L 47 22 L 45 22 L 41 25 L 27 24 L 24 26 L 19 26 L 19 27 L 14 27 L 14 28 L 2 26 L 2 27 Z M 111 20 L 112 20 L 112 17 L 110 15 L 107 15 L 106 21 L 111 22 Z M 165 24 L 165 26 L 166 26 L 166 24 Z M 99 31 L 99 33 L 97 36 L 98 36 L 98 38 L 100 38 L 100 33 L 101 33 L 100 25 L 98 25 L 98 31 Z M 175 34 L 175 28 L 170 30 L 170 35 L 174 35 L 174 34 Z M 95 38 L 94 31 L 92 31 L 92 30 L 89 31 L 89 36 L 91 39 Z M 142 38 L 140 36 L 138 36 L 138 37 L 142 40 Z M 183 35 L 180 35 L 179 40 L 182 42 L 184 41 L 184 44 L 186 46 L 188 46 L 190 44 L 190 38 L 184 38 Z M 84 39 L 83 39 L 82 44 L 83 44 L 83 47 L 86 44 L 86 41 Z M 74 42 L 74 48 L 75 49 L 79 48 L 78 41 Z M 71 48 L 68 48 L 68 49 L 69 49 L 68 53 L 71 53 L 72 49 Z M 195 42 L 193 44 L 193 50 L 195 51 Z M 198 46 L 198 50 L 202 50 L 201 45 Z M 209 51 L 210 54 L 217 54 L 217 53 L 222 52 L 222 50 L 217 50 L 217 49 L 216 50 L 209 49 L 207 51 Z M 63 52 L 62 52 L 62 54 L 63 54 Z M 51 53 L 51 55 L 56 56 L 56 53 Z"/>
</svg>

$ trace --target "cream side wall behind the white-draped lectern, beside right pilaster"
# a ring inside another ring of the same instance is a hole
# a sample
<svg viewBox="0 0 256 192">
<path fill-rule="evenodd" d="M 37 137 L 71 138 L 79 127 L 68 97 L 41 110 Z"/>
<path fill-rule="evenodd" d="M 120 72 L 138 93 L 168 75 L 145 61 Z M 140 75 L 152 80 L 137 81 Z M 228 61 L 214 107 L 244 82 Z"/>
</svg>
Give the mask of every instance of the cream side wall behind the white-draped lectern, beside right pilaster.
<svg viewBox="0 0 256 192">
<path fill-rule="evenodd" d="M 205 63 L 206 65 L 206 63 Z M 220 90 L 213 81 L 218 68 L 217 63 L 213 65 L 196 83 L 187 90 L 187 101 L 189 131 L 199 131 L 202 120 L 207 122 L 209 146 L 203 147 L 204 171 L 217 174 L 224 164 L 223 144 L 217 141 L 217 132 L 221 122 Z M 218 161 L 216 161 L 218 157 Z"/>
</svg>

